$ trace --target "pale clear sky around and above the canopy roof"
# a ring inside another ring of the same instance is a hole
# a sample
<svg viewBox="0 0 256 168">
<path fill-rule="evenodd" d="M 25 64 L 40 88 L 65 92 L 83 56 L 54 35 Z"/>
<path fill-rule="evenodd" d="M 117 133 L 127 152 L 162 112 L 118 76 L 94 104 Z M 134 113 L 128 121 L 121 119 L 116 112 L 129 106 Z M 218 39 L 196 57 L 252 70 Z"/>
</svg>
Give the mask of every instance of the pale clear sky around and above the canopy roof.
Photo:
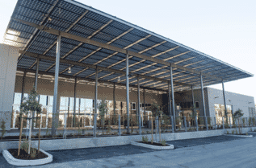
<svg viewBox="0 0 256 168">
<path fill-rule="evenodd" d="M 0 2 L 0 38 L 16 0 Z M 256 1 L 78 0 L 129 23 L 256 74 Z M 225 83 L 225 90 L 256 97 L 256 77 Z M 221 89 L 221 84 L 212 85 Z"/>
</svg>

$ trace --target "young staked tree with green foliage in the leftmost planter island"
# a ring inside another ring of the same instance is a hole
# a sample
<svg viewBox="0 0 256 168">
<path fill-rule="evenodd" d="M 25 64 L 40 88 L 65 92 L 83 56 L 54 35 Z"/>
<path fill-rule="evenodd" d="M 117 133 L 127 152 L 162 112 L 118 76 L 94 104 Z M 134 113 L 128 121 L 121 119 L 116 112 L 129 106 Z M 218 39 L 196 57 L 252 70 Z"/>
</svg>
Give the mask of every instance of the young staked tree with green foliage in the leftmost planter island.
<svg viewBox="0 0 256 168">
<path fill-rule="evenodd" d="M 28 95 L 28 97 L 24 97 L 22 100 L 22 103 L 20 104 L 20 113 L 19 116 L 22 116 L 23 114 L 28 114 L 30 113 L 41 113 L 42 112 L 42 105 L 39 104 L 39 102 L 36 100 L 38 94 L 36 92 L 35 87 L 33 87 L 31 89 L 30 94 Z M 22 129 L 22 128 L 21 128 Z M 31 129 L 31 128 L 30 128 Z M 31 137 L 31 132 L 30 132 L 30 137 Z M 40 137 L 40 134 L 39 134 Z M 19 139 L 19 143 L 20 143 L 20 139 Z M 31 147 L 31 141 L 29 141 L 29 149 L 28 149 L 28 153 L 30 153 L 30 147 Z M 20 150 L 20 148 L 19 148 Z M 40 139 L 38 142 L 38 150 L 40 150 Z"/>
</svg>

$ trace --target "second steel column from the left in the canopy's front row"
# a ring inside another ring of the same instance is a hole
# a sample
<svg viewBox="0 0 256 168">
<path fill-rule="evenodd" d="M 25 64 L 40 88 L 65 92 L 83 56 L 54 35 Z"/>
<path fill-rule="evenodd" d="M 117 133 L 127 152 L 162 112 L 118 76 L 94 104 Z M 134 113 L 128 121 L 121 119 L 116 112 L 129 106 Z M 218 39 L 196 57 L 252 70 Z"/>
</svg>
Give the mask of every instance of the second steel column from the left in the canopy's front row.
<svg viewBox="0 0 256 168">
<path fill-rule="evenodd" d="M 126 111 L 127 111 L 127 133 L 130 133 L 130 102 L 129 102 L 129 55 L 126 54 Z"/>
</svg>

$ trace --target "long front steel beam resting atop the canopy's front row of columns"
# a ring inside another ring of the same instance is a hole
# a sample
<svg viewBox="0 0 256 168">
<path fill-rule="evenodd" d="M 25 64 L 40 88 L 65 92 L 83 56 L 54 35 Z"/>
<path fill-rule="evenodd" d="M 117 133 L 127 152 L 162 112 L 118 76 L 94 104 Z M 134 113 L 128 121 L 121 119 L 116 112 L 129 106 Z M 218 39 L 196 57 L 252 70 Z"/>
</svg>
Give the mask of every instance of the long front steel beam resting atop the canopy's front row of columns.
<svg viewBox="0 0 256 168">
<path fill-rule="evenodd" d="M 127 50 L 122 49 L 120 47 L 114 47 L 114 46 L 111 46 L 111 45 L 109 45 L 107 43 L 100 43 L 100 42 L 94 41 L 92 39 L 83 38 L 83 37 L 80 37 L 78 35 L 72 35 L 70 33 L 64 32 L 64 31 L 58 31 L 56 29 L 52 29 L 50 27 L 44 27 L 44 26 L 37 25 L 35 23 L 29 23 L 27 21 L 23 21 L 23 20 L 18 19 L 18 18 L 13 18 L 13 19 L 15 19 L 18 22 L 27 24 L 27 25 L 29 25 L 31 27 L 36 27 L 40 31 L 45 31 L 45 32 L 48 32 L 48 33 L 50 33 L 52 35 L 61 35 L 62 37 L 65 37 L 67 39 L 73 39 L 73 40 L 76 40 L 76 41 L 79 41 L 79 42 L 82 42 L 82 43 L 88 43 L 90 45 L 94 45 L 94 46 L 97 46 L 97 47 L 103 47 L 103 48 L 106 48 L 106 49 L 111 50 L 111 51 L 117 51 L 117 52 L 120 52 L 120 53 L 123 53 L 123 54 L 128 54 L 128 55 L 136 56 L 137 58 L 146 59 L 146 60 L 152 61 L 152 62 L 157 63 L 157 64 L 163 64 L 163 65 L 166 65 L 166 66 L 172 66 L 173 68 L 183 69 L 184 71 L 187 71 L 187 72 L 192 72 L 192 73 L 195 73 L 195 74 L 198 74 L 198 75 L 205 76 L 207 78 L 212 78 L 214 80 L 222 81 L 222 79 L 219 78 L 219 77 L 210 76 L 208 74 L 204 74 L 204 73 L 192 70 L 190 68 L 185 68 L 185 67 L 179 66 L 177 64 L 171 64 L 171 63 L 166 62 L 165 60 L 162 60 L 162 59 L 155 59 L 153 57 L 146 56 L 146 55 L 141 55 L 141 54 L 133 52 L 133 51 L 127 51 Z"/>
</svg>

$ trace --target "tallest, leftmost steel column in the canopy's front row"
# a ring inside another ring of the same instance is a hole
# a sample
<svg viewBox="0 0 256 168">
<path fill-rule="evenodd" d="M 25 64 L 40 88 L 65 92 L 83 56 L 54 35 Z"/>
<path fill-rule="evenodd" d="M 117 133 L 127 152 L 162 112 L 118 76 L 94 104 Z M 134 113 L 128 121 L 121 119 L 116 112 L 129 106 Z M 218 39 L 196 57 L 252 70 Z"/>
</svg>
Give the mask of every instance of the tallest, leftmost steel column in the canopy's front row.
<svg viewBox="0 0 256 168">
<path fill-rule="evenodd" d="M 60 57 L 61 57 L 61 35 L 57 37 L 57 47 L 56 47 L 54 95 L 53 95 L 53 104 L 52 104 L 52 136 L 56 134 L 56 127 L 58 126 L 57 94 L 58 94 Z"/>
</svg>

